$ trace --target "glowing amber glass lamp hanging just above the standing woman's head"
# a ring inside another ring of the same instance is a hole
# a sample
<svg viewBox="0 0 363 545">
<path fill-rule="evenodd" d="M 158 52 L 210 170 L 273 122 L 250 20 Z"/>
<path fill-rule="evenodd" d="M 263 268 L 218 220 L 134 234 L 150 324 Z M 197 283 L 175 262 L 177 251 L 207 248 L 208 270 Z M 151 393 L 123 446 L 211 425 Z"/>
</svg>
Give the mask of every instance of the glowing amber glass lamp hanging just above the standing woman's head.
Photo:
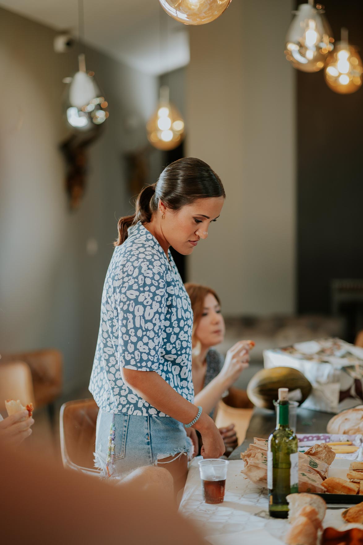
<svg viewBox="0 0 363 545">
<path fill-rule="evenodd" d="M 180 112 L 169 101 L 169 88 L 160 88 L 160 100 L 155 113 L 147 122 L 149 142 L 158 149 L 168 151 L 179 146 L 184 138 L 184 121 Z"/>
</svg>

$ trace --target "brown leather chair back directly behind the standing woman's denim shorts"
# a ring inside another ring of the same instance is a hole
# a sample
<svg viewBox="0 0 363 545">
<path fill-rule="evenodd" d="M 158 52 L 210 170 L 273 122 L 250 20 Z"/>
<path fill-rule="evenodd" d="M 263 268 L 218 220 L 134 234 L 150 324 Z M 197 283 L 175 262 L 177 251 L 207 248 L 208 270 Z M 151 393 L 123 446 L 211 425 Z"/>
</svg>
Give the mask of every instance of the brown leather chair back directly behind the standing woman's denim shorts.
<svg viewBox="0 0 363 545">
<path fill-rule="evenodd" d="M 93 398 L 68 401 L 61 407 L 62 462 L 65 468 L 90 475 L 100 475 L 94 468 L 93 453 L 96 441 L 98 407 Z"/>
</svg>

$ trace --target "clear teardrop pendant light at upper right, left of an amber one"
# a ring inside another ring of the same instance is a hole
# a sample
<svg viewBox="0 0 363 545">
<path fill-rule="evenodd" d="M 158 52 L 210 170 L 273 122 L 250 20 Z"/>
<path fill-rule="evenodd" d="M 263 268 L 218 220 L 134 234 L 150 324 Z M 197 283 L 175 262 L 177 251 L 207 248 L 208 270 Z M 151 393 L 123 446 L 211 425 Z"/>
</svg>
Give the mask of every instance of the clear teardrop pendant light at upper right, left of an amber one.
<svg viewBox="0 0 363 545">
<path fill-rule="evenodd" d="M 334 42 L 324 11 L 308 0 L 293 13 L 295 17 L 286 35 L 286 59 L 298 70 L 318 72 L 324 68 Z"/>
</svg>

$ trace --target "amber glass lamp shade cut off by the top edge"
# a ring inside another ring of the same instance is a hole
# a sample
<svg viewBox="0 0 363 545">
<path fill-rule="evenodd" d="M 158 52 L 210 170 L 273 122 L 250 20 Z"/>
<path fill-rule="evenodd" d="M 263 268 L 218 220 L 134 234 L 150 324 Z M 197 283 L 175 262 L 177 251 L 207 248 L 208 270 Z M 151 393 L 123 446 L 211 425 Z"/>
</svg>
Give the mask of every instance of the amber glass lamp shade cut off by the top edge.
<svg viewBox="0 0 363 545">
<path fill-rule="evenodd" d="M 232 0 L 159 0 L 159 2 L 166 13 L 180 23 L 205 25 L 222 15 Z"/>
</svg>

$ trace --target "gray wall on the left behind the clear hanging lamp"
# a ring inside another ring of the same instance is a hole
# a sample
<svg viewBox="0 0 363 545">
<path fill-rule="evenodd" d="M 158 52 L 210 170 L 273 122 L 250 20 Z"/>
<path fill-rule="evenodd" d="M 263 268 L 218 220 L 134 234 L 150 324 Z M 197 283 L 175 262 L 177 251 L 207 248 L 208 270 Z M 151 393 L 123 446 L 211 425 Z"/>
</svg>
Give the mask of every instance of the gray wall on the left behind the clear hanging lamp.
<svg viewBox="0 0 363 545">
<path fill-rule="evenodd" d="M 62 79 L 76 71 L 77 52 L 54 53 L 51 29 L 13 13 L 0 10 L 0 21 L 0 353 L 61 349 L 69 391 L 90 373 L 117 218 L 132 209 L 122 154 L 147 143 L 158 81 L 86 48 L 110 118 L 89 148 L 81 208 L 70 212 L 58 146 L 68 135 Z"/>
</svg>

